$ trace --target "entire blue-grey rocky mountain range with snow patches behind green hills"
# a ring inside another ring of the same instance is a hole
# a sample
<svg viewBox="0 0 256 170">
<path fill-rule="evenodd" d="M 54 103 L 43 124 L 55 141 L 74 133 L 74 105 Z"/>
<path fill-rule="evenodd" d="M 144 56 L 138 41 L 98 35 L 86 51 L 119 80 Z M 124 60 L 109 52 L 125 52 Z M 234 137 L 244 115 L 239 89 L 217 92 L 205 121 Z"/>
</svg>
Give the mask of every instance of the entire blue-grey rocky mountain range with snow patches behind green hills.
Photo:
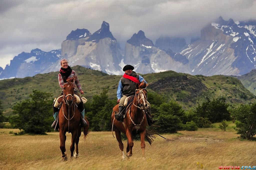
<svg viewBox="0 0 256 170">
<path fill-rule="evenodd" d="M 80 65 L 107 74 L 121 75 L 126 64 L 141 74 L 172 70 L 191 75 L 241 76 L 256 68 L 256 21 L 228 21 L 219 17 L 201 29 L 200 38 L 186 44 L 184 38 L 159 37 L 155 44 L 140 30 L 126 41 L 124 51 L 103 21 L 101 28 L 71 31 L 60 50 L 22 52 L 0 78 L 34 76 L 57 71 L 59 60 L 67 58 L 71 66 Z"/>
</svg>

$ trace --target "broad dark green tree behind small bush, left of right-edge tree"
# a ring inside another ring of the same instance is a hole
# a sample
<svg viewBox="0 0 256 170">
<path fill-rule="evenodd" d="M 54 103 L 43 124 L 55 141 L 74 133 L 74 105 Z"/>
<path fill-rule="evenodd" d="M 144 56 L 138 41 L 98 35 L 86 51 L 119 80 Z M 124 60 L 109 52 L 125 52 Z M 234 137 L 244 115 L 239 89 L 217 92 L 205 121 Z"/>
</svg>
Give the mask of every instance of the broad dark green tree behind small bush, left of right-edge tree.
<svg viewBox="0 0 256 170">
<path fill-rule="evenodd" d="M 196 113 L 199 117 L 208 118 L 210 122 L 216 123 L 222 120 L 230 120 L 228 111 L 229 104 L 226 104 L 225 98 L 208 100 L 198 105 Z"/>
</svg>

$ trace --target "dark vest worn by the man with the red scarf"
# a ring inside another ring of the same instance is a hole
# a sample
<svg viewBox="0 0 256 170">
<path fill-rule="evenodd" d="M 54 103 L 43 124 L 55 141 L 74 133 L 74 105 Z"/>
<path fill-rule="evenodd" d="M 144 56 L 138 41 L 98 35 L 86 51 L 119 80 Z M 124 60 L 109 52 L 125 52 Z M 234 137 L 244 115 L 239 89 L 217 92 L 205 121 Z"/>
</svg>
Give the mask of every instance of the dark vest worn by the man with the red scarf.
<svg viewBox="0 0 256 170">
<path fill-rule="evenodd" d="M 138 74 L 134 77 L 139 79 Z M 127 97 L 135 95 L 136 83 L 134 81 L 121 77 L 121 83 L 123 86 L 123 95 L 126 95 Z"/>
</svg>

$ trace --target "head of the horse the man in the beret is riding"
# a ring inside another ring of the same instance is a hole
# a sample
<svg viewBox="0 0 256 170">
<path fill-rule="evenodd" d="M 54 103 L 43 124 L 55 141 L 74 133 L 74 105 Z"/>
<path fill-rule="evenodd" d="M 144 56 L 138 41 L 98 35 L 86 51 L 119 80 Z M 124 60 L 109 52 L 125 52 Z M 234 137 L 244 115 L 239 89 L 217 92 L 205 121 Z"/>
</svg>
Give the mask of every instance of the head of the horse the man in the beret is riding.
<svg viewBox="0 0 256 170">
<path fill-rule="evenodd" d="M 138 84 L 136 83 L 136 90 L 135 90 L 135 96 L 134 100 L 137 101 L 137 106 L 141 109 L 146 109 L 148 107 L 147 105 L 147 91 L 146 87 L 148 84 L 144 82 L 144 80 Z"/>
</svg>

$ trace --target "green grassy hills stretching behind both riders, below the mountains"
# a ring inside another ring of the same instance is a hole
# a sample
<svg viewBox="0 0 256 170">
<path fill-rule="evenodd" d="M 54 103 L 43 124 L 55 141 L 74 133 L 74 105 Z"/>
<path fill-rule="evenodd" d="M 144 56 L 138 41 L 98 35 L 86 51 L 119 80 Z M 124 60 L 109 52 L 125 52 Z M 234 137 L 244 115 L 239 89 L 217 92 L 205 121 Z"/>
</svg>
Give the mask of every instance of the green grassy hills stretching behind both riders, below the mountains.
<svg viewBox="0 0 256 170">
<path fill-rule="evenodd" d="M 109 89 L 108 95 L 116 99 L 116 89 L 121 76 L 108 75 L 100 71 L 81 66 L 72 67 L 78 74 L 83 96 L 90 99 L 100 94 L 103 88 Z M 234 77 L 202 75 L 192 76 L 174 71 L 165 71 L 141 75 L 149 83 L 148 92 L 156 92 L 166 96 L 167 100 L 176 100 L 184 108 L 196 106 L 199 103 L 218 97 L 225 97 L 231 106 L 241 103 L 254 103 L 256 97 Z M 58 84 L 58 72 L 38 74 L 33 77 L 15 78 L 0 81 L 0 99 L 4 108 L 4 115 L 12 115 L 12 107 L 29 99 L 33 90 L 52 93 L 57 97 L 61 89 Z"/>
</svg>

